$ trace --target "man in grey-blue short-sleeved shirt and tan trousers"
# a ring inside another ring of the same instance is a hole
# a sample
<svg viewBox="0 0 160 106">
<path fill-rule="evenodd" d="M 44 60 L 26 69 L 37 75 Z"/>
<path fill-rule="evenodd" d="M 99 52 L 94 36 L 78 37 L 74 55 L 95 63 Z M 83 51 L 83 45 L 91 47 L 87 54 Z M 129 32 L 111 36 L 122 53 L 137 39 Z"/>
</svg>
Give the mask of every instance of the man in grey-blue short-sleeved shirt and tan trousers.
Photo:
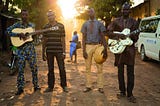
<svg viewBox="0 0 160 106">
<path fill-rule="evenodd" d="M 89 20 L 87 20 L 82 28 L 81 32 L 83 34 L 82 37 L 82 47 L 83 47 L 83 57 L 85 59 L 86 65 L 86 88 L 83 92 L 91 91 L 91 65 L 92 65 L 92 58 L 94 56 L 94 52 L 100 46 L 104 46 L 103 50 L 103 57 L 107 58 L 107 44 L 104 37 L 104 32 L 106 31 L 104 25 L 96 20 L 95 18 L 95 11 L 93 8 L 88 10 Z M 96 63 L 97 70 L 98 70 L 98 78 L 97 78 L 97 86 L 98 91 L 103 93 L 103 64 Z"/>
</svg>

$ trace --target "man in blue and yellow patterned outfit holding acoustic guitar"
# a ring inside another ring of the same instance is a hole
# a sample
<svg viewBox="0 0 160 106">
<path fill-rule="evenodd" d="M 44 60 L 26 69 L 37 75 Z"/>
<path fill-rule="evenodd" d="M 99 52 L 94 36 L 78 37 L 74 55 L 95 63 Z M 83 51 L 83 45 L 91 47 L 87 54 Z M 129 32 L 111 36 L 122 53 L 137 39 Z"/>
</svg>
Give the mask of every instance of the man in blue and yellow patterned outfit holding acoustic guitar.
<svg viewBox="0 0 160 106">
<path fill-rule="evenodd" d="M 21 11 L 22 21 L 15 23 L 14 25 L 7 28 L 7 32 L 11 37 L 19 37 L 24 44 L 17 48 L 17 58 L 18 58 L 18 77 L 17 77 L 17 88 L 18 91 L 16 95 L 22 94 L 24 91 L 24 67 L 26 60 L 28 60 L 33 78 L 34 91 L 40 90 L 38 86 L 38 68 L 36 60 L 36 51 L 32 41 L 25 42 L 28 38 L 25 33 L 13 33 L 12 30 L 15 28 L 26 29 L 35 28 L 34 24 L 30 23 L 28 20 L 29 13 L 27 10 Z"/>
</svg>

